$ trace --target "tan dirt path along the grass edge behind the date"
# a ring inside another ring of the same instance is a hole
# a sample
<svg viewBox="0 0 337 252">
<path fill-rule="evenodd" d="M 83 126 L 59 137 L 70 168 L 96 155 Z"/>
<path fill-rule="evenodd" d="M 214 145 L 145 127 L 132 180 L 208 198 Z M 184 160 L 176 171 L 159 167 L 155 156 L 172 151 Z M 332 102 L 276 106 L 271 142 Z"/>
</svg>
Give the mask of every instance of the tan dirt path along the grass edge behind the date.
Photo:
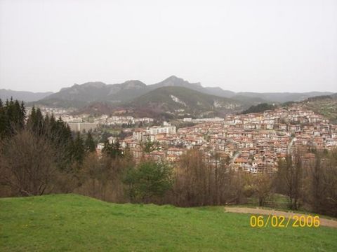
<svg viewBox="0 0 337 252">
<path fill-rule="evenodd" d="M 308 214 L 297 214 L 286 211 L 277 211 L 277 210 L 267 210 L 267 209 L 253 209 L 248 207 L 225 207 L 225 211 L 230 213 L 241 213 L 241 214 L 261 214 L 261 215 L 275 215 L 275 216 L 284 216 L 285 218 L 291 218 L 292 216 L 308 216 Z M 337 221 L 329 220 L 326 218 L 321 218 L 319 216 L 320 225 L 337 228 Z"/>
</svg>

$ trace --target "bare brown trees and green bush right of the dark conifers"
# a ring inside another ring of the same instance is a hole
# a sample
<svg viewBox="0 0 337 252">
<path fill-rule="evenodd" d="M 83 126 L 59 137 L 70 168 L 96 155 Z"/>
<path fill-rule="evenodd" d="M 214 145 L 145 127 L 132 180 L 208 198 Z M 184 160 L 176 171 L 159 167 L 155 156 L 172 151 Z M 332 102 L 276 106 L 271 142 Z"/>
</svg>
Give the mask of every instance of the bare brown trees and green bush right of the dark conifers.
<svg viewBox="0 0 337 252">
<path fill-rule="evenodd" d="M 269 206 L 282 195 L 281 207 L 337 216 L 337 151 L 298 150 L 279 160 L 276 173 L 234 169 L 220 153 L 190 150 L 174 164 L 143 156 L 103 155 L 84 161 L 86 184 L 77 193 L 110 202 L 201 207 L 226 204 Z M 275 206 L 274 206 L 275 207 Z"/>
</svg>

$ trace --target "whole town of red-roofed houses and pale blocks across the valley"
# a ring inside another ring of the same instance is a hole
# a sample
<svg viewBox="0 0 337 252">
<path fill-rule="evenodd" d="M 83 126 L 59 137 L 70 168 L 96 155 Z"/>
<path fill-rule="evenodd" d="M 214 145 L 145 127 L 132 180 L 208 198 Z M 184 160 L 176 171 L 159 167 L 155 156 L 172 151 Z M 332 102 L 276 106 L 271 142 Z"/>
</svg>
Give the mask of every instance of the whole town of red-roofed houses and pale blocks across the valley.
<svg viewBox="0 0 337 252">
<path fill-rule="evenodd" d="M 156 123 L 154 118 L 133 116 L 72 116 L 73 111 L 69 109 L 42 107 L 41 111 L 62 118 L 74 132 L 103 134 L 108 129 L 115 129 L 123 133 L 122 137 L 110 134 L 105 141 L 110 144 L 119 141 L 121 148 L 128 148 L 135 160 L 147 155 L 157 161 L 177 162 L 187 150 L 197 149 L 203 151 L 213 165 L 223 161 L 235 170 L 252 174 L 277 172 L 278 160 L 298 146 L 321 150 L 332 150 L 337 146 L 337 125 L 302 106 L 232 114 L 224 118 L 183 118 L 173 120 L 173 123 Z M 157 148 L 144 153 L 146 141 L 156 144 Z M 97 143 L 98 155 L 104 145 L 103 141 Z M 303 160 L 310 158 L 312 154 L 306 153 Z"/>
</svg>

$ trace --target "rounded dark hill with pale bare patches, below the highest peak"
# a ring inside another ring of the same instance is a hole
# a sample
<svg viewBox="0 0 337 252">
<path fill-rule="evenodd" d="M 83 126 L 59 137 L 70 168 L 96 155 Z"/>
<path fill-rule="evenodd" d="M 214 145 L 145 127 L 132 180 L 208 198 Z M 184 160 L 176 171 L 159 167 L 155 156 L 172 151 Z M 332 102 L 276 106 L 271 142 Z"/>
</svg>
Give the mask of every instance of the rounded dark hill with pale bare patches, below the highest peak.
<svg viewBox="0 0 337 252">
<path fill-rule="evenodd" d="M 180 86 L 159 87 L 125 104 L 133 111 L 172 116 L 219 116 L 244 109 L 245 104 L 233 99 L 204 94 Z"/>
</svg>

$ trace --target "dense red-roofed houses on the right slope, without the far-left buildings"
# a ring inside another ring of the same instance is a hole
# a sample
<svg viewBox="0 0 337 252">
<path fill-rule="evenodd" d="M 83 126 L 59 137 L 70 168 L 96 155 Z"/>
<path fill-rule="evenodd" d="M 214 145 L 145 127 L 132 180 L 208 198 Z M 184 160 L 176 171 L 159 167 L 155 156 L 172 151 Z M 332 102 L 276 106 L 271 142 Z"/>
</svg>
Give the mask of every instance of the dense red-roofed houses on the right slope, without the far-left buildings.
<svg viewBox="0 0 337 252">
<path fill-rule="evenodd" d="M 185 118 L 184 121 L 191 120 Z M 209 158 L 217 156 L 214 162 L 227 160 L 235 169 L 254 174 L 275 172 L 277 160 L 296 146 L 328 150 L 337 147 L 337 125 L 296 107 L 193 121 L 197 124 L 178 130 L 169 123 L 137 128 L 131 137 L 119 141 L 136 159 L 144 155 L 143 143 L 152 141 L 159 146 L 150 153 L 156 160 L 176 162 L 187 150 L 198 149 Z M 110 138 L 110 141 L 116 139 Z M 99 146 L 102 148 L 102 144 Z"/>
</svg>

